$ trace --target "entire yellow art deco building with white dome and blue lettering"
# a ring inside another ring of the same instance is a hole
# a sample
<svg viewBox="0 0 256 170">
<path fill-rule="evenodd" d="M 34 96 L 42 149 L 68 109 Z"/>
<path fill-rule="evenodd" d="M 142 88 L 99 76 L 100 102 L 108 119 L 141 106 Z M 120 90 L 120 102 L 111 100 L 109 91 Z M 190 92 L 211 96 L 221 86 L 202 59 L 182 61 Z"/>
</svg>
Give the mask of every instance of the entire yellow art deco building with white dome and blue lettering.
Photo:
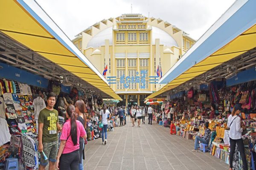
<svg viewBox="0 0 256 170">
<path fill-rule="evenodd" d="M 123 99 L 119 105 L 130 107 L 143 105 L 146 96 L 161 88 L 161 72 L 164 75 L 195 40 L 161 19 L 122 14 L 90 26 L 73 43 L 99 72 L 107 65 L 106 79 Z"/>
</svg>

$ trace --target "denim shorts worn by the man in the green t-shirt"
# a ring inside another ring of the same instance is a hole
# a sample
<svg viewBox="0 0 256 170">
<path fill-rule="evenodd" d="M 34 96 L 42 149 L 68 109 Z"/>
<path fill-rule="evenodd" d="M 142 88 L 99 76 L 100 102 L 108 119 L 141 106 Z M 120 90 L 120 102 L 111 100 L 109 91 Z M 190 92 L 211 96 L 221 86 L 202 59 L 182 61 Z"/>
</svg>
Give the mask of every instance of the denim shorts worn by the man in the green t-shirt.
<svg viewBox="0 0 256 170">
<path fill-rule="evenodd" d="M 40 164 L 46 166 L 48 160 L 51 162 L 56 162 L 56 157 L 58 153 L 58 141 L 43 143 L 44 154 L 47 156 L 47 160 L 44 160 L 44 156 L 41 154 Z"/>
</svg>

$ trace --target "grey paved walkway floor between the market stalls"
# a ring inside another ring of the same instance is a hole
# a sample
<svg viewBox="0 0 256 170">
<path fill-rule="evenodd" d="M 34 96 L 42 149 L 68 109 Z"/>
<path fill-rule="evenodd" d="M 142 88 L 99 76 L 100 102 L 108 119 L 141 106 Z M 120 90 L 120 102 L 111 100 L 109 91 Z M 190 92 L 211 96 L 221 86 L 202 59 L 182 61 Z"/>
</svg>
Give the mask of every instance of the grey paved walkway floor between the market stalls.
<svg viewBox="0 0 256 170">
<path fill-rule="evenodd" d="M 87 143 L 85 170 L 228 169 L 227 164 L 209 153 L 192 152 L 193 140 L 170 135 L 168 128 L 155 122 L 132 127 L 128 121 L 108 132 L 107 145 L 101 143 L 101 139 Z"/>
</svg>

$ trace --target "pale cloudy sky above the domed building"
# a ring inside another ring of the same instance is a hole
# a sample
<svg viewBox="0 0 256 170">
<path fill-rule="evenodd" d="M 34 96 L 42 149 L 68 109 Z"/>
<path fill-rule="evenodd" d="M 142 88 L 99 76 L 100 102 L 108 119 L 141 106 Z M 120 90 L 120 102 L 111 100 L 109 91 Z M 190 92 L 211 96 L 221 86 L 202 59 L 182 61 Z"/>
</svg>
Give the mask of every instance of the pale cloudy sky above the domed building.
<svg viewBox="0 0 256 170">
<path fill-rule="evenodd" d="M 122 14 L 160 18 L 198 40 L 235 0 L 36 0 L 73 40 L 93 24 Z"/>
</svg>

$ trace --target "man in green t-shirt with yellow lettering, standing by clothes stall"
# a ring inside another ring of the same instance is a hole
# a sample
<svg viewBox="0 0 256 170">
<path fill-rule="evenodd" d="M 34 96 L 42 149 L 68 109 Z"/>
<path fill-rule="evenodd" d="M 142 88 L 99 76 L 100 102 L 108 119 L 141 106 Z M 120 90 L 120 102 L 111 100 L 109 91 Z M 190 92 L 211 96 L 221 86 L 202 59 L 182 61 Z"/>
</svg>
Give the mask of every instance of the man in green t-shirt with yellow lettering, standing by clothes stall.
<svg viewBox="0 0 256 170">
<path fill-rule="evenodd" d="M 47 107 L 40 111 L 38 116 L 38 150 L 44 151 L 49 159 L 49 170 L 55 170 L 55 162 L 58 152 L 58 111 L 53 109 L 56 103 L 56 94 L 53 92 L 47 96 Z M 41 155 L 39 170 L 45 170 L 48 160 Z"/>
</svg>

